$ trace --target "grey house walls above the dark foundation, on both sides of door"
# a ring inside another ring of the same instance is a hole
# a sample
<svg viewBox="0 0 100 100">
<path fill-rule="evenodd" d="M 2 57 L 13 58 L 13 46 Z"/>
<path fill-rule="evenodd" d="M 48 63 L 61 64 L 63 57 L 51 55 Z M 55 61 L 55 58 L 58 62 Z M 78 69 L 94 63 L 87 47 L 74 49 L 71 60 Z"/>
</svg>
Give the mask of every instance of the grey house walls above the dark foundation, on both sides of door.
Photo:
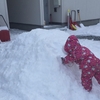
<svg viewBox="0 0 100 100">
<path fill-rule="evenodd" d="M 61 6 L 54 12 L 54 0 L 49 1 L 49 15 L 52 21 L 66 23 L 67 10 L 80 10 L 81 20 L 100 18 L 100 0 L 61 0 Z M 43 0 L 7 0 L 10 22 L 44 25 Z M 78 21 L 78 17 L 77 21 Z M 50 18 L 49 18 L 50 19 Z"/>
</svg>

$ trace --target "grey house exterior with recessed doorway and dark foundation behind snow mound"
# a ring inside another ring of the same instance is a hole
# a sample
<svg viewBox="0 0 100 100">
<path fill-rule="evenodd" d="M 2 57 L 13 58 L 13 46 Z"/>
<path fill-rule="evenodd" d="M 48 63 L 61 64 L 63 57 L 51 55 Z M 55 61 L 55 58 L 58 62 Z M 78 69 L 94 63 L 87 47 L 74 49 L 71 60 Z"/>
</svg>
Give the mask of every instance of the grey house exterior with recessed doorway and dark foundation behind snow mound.
<svg viewBox="0 0 100 100">
<path fill-rule="evenodd" d="M 100 19 L 99 4 L 100 0 L 7 0 L 10 26 L 27 30 L 50 23 L 66 24 L 68 9 L 80 10 L 85 25 L 96 24 Z"/>
</svg>

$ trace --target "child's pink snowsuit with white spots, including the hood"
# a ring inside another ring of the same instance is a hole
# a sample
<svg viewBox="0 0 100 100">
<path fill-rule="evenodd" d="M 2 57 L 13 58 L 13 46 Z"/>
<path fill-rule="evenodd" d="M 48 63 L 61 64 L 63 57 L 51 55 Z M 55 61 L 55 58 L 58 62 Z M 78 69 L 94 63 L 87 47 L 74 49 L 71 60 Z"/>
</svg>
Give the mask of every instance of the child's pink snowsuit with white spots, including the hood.
<svg viewBox="0 0 100 100">
<path fill-rule="evenodd" d="M 81 81 L 83 87 L 91 91 L 92 78 L 96 78 L 100 84 L 100 59 L 98 59 L 88 48 L 81 46 L 77 37 L 71 35 L 64 46 L 68 55 L 64 58 L 64 64 L 76 62 L 82 69 Z"/>
</svg>

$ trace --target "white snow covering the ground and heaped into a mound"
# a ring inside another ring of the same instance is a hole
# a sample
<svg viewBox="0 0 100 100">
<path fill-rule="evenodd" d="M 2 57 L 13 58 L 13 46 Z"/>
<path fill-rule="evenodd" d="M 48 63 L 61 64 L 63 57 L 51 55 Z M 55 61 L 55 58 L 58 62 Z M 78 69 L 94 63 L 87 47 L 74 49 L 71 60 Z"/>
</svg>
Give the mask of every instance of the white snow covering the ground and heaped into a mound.
<svg viewBox="0 0 100 100">
<path fill-rule="evenodd" d="M 0 43 L 0 100 L 100 100 L 97 81 L 93 78 L 93 89 L 87 92 L 78 65 L 64 66 L 59 59 L 65 56 L 63 46 L 69 35 L 100 35 L 100 24 L 68 32 L 10 32 L 11 41 Z M 79 41 L 100 58 L 100 41 Z"/>
</svg>

